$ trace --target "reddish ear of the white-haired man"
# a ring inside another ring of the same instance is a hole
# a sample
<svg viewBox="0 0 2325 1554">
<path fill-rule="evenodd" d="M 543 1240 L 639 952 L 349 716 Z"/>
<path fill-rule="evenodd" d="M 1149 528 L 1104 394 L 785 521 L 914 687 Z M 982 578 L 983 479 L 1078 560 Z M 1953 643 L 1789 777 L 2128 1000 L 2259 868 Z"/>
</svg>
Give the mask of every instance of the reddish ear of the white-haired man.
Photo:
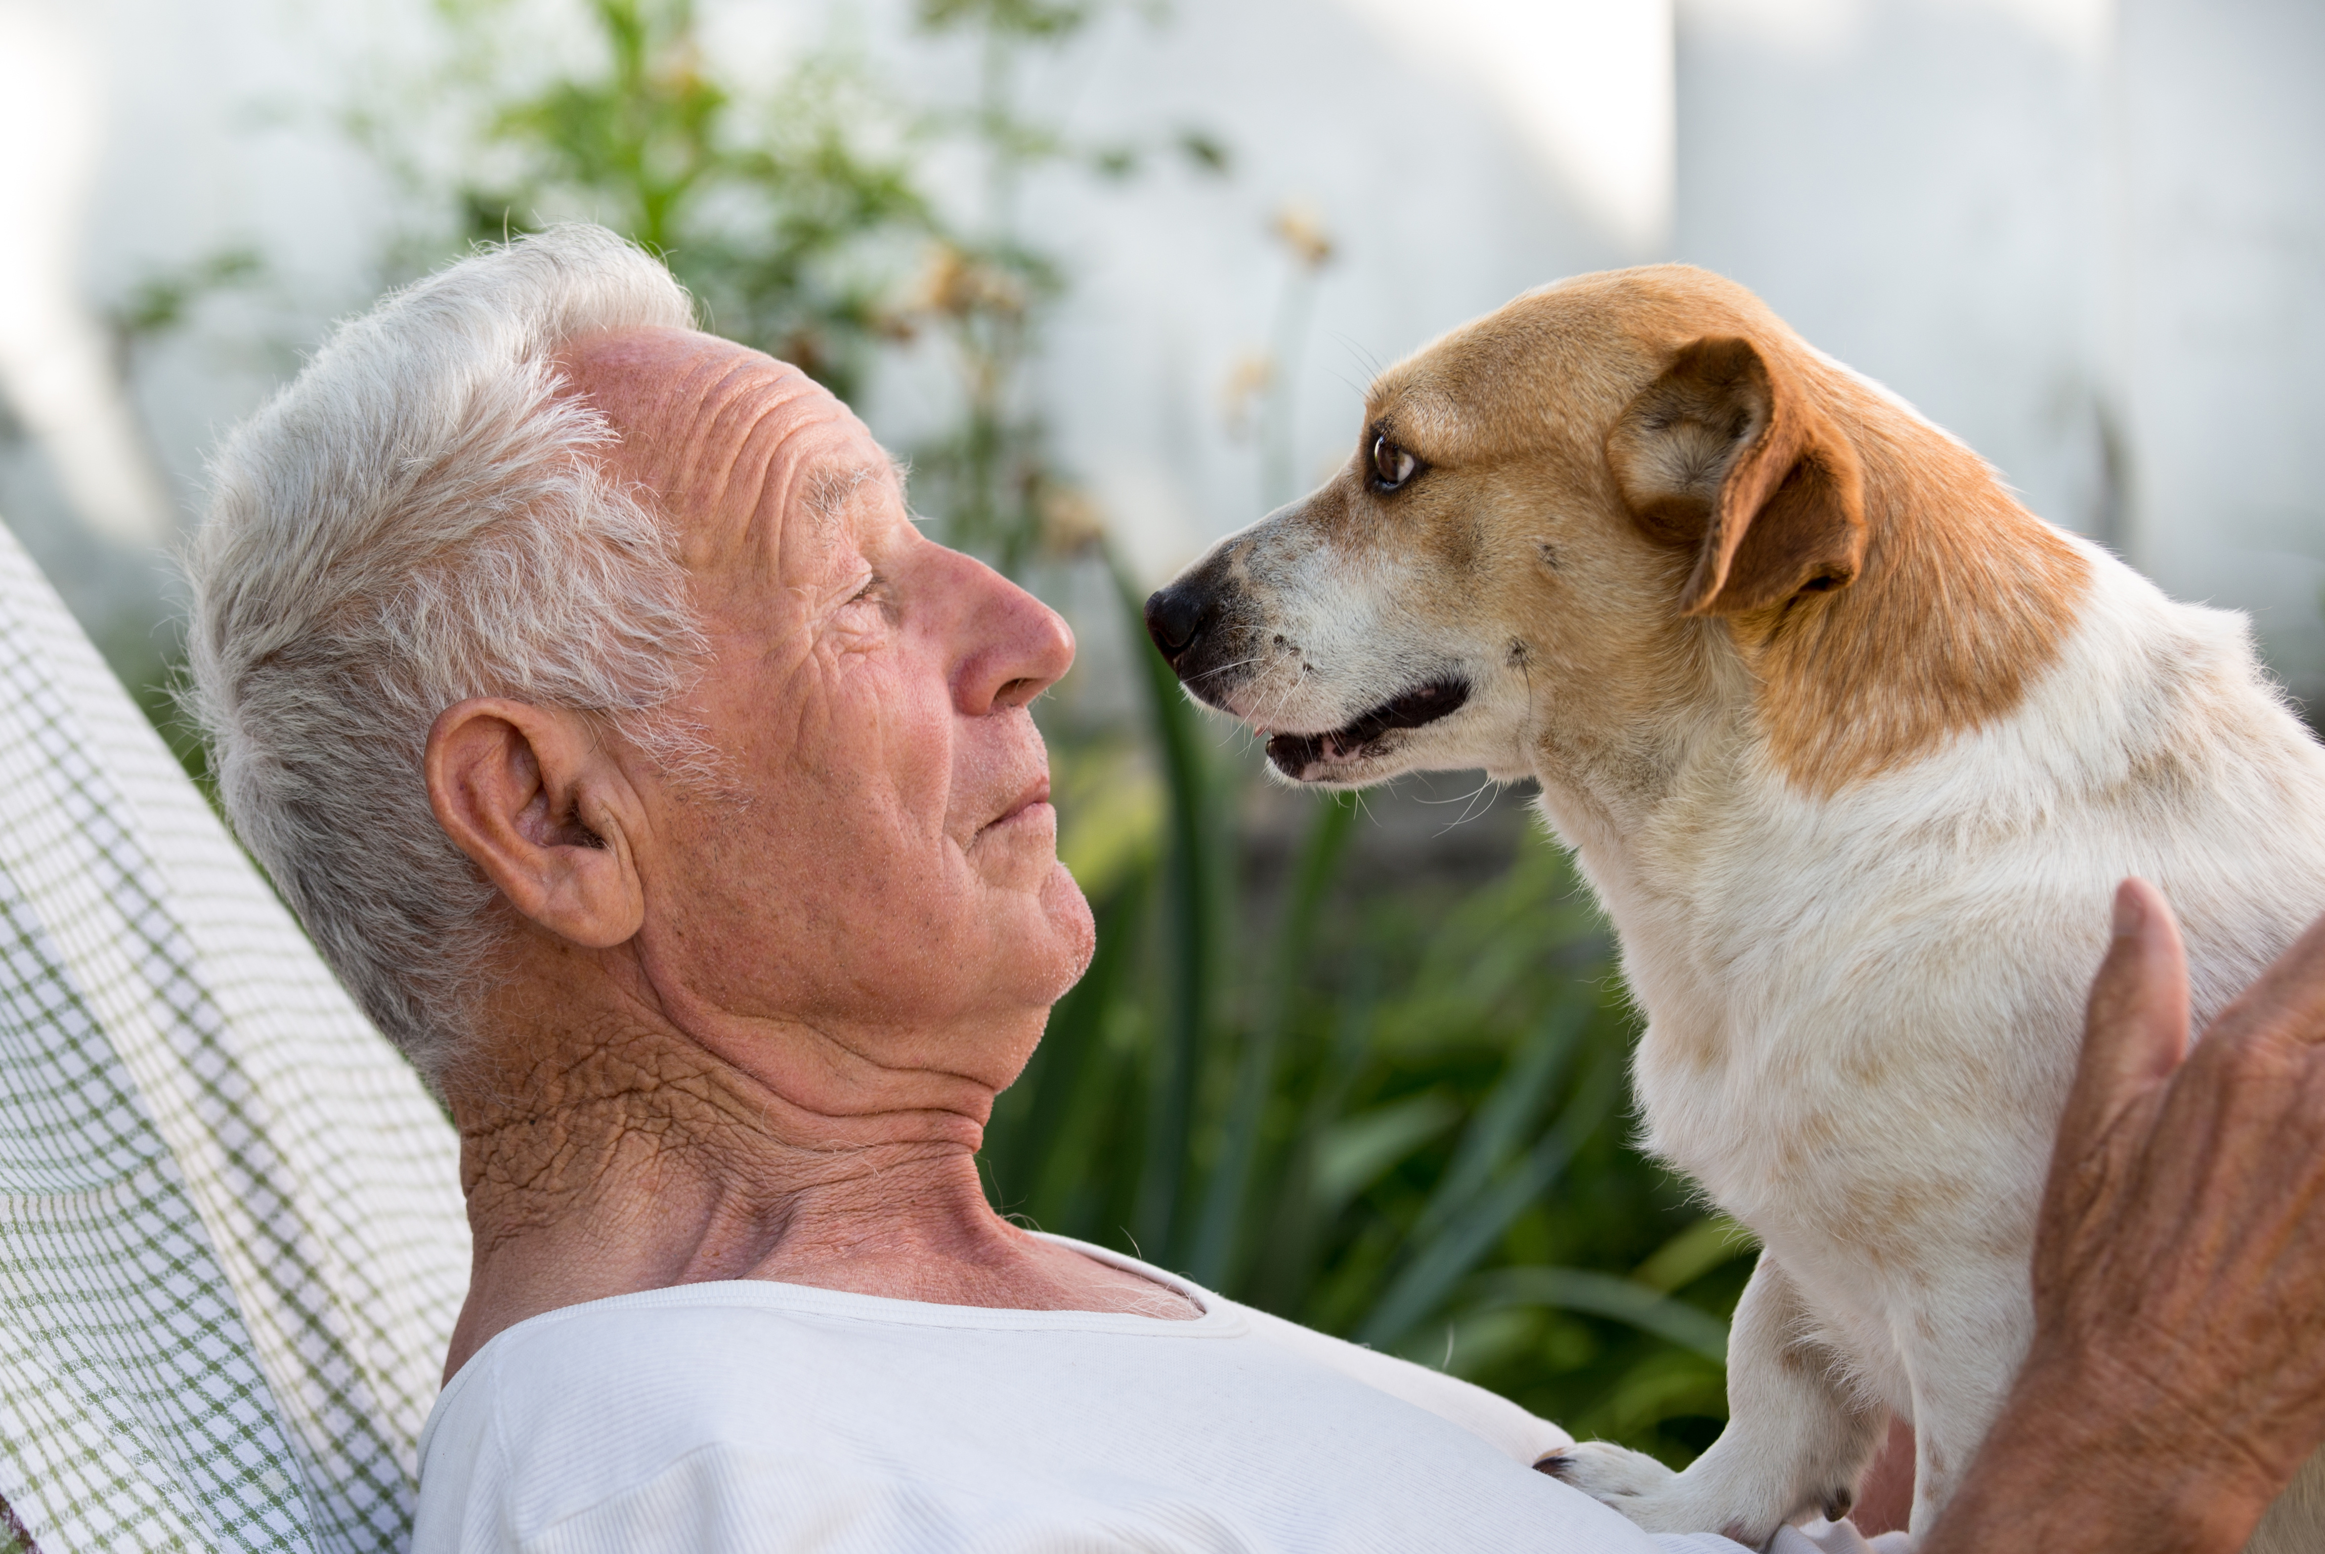
<svg viewBox="0 0 2325 1554">
<path fill-rule="evenodd" d="M 458 703 L 428 730 L 425 770 L 444 835 L 521 914 L 588 949 L 646 921 L 637 791 L 581 717 L 498 696 Z"/>
</svg>

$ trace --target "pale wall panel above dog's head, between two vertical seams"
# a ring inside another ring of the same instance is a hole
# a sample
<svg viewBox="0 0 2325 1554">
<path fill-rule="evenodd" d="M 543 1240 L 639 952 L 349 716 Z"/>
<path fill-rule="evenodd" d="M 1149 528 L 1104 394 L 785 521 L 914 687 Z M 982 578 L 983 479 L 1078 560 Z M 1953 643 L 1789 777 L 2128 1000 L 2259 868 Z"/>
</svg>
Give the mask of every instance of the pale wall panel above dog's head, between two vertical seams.
<svg viewBox="0 0 2325 1554">
<path fill-rule="evenodd" d="M 2002 5 L 1683 2 L 1674 256 L 2104 533 L 2104 60 Z"/>
</svg>

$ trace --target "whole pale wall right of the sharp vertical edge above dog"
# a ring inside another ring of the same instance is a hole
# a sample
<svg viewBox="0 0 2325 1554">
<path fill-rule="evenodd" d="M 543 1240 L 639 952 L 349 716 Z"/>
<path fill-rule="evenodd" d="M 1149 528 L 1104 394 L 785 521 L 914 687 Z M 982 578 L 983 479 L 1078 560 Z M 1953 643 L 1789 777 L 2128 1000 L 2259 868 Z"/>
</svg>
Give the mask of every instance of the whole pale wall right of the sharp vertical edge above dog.
<svg viewBox="0 0 2325 1554">
<path fill-rule="evenodd" d="M 2325 698 L 2316 0 L 1681 0 L 1674 256 Z"/>
</svg>

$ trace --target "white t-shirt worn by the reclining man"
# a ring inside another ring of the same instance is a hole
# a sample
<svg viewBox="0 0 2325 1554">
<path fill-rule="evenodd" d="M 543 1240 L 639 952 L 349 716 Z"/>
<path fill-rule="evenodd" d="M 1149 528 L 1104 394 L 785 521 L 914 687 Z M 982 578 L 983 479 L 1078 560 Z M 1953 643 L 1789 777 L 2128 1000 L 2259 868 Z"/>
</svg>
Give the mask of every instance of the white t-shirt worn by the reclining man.
<svg viewBox="0 0 2325 1554">
<path fill-rule="evenodd" d="M 1535 1473 L 1516 1403 L 1200 1291 L 1193 1321 L 735 1279 L 521 1321 L 421 1435 L 414 1554 L 1739 1554 Z"/>
</svg>

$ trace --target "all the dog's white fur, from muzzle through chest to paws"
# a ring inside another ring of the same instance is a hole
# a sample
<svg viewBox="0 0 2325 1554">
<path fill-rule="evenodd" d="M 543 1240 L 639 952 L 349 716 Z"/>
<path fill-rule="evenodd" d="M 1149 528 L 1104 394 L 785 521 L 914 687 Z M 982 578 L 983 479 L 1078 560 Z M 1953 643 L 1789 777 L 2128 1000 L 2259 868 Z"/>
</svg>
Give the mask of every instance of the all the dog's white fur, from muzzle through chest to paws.
<svg viewBox="0 0 2325 1554">
<path fill-rule="evenodd" d="M 1888 1407 L 1916 1431 L 1925 1533 L 2027 1347 L 2034 1212 L 2116 882 L 2179 912 L 2199 1024 L 2325 912 L 2325 749 L 2244 619 L 2074 542 L 2090 589 L 2016 712 L 1816 798 L 1772 761 L 1723 626 L 1702 626 L 1709 696 L 1579 730 L 1497 621 L 1414 621 L 1397 565 L 1360 577 L 1279 519 L 1197 563 L 1260 579 L 1244 628 L 1279 647 L 1190 689 L 1262 728 L 1332 728 L 1414 675 L 1467 675 L 1460 712 L 1335 779 L 1532 751 L 1648 1017 L 1646 1145 L 1765 1242 L 1721 1440 L 1676 1475 L 1581 1445 L 1560 1477 L 1651 1531 L 1760 1542 L 1855 1484 Z M 2325 1547 L 2320 1512 L 2313 1461 L 2253 1549 Z"/>
</svg>

